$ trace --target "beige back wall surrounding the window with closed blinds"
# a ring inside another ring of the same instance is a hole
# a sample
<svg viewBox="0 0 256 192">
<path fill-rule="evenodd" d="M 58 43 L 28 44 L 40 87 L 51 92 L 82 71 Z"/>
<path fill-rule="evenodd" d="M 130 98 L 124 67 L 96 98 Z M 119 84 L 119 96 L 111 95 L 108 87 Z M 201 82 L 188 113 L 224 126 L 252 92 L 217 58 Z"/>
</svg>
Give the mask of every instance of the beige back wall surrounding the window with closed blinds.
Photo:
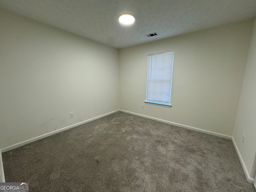
<svg viewBox="0 0 256 192">
<path fill-rule="evenodd" d="M 232 136 L 251 30 L 239 22 L 119 50 L 120 109 Z M 172 108 L 144 104 L 147 55 L 167 51 Z"/>
</svg>

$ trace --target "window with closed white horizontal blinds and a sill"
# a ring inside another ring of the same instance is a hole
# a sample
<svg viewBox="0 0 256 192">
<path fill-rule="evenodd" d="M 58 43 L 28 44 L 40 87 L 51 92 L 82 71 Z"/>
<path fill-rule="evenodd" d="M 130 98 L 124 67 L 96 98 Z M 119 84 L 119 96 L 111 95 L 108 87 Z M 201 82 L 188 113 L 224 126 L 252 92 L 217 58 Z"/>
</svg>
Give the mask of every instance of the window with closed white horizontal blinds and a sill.
<svg viewBox="0 0 256 192">
<path fill-rule="evenodd" d="M 145 103 L 171 107 L 174 51 L 148 55 Z"/>
</svg>

